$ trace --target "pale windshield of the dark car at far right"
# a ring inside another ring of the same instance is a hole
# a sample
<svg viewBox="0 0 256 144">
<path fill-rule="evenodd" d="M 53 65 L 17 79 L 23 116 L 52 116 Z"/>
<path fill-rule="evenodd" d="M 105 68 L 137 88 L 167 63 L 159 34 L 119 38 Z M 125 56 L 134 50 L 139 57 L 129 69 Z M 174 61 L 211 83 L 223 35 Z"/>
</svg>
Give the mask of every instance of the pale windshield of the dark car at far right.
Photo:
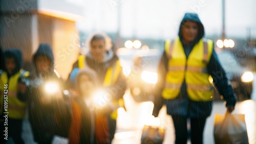
<svg viewBox="0 0 256 144">
<path fill-rule="evenodd" d="M 226 73 L 244 73 L 247 69 L 241 66 L 236 57 L 229 51 L 222 51 L 217 56 Z"/>
</svg>

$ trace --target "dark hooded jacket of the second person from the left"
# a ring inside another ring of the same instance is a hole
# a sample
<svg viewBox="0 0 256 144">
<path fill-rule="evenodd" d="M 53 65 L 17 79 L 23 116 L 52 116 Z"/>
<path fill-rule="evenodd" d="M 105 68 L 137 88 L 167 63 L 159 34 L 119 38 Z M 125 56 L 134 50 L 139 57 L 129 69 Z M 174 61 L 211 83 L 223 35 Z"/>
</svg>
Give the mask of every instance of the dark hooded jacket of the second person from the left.
<svg viewBox="0 0 256 144">
<path fill-rule="evenodd" d="M 35 65 L 35 75 L 30 80 L 29 95 L 27 98 L 29 120 L 31 123 L 34 140 L 39 143 L 48 143 L 52 140 L 57 129 L 57 119 L 55 113 L 58 111 L 68 111 L 65 107 L 61 107 L 63 102 L 58 102 L 54 94 L 46 92 L 44 85 L 48 82 L 55 82 L 62 91 L 62 81 L 54 73 L 54 58 L 52 49 L 49 44 L 40 44 L 38 50 L 33 56 L 35 64 L 36 57 L 43 55 L 51 61 L 51 66 L 47 73 L 40 74 Z M 42 103 L 42 98 L 51 98 L 50 102 Z M 65 125 L 65 124 L 63 124 Z"/>
</svg>

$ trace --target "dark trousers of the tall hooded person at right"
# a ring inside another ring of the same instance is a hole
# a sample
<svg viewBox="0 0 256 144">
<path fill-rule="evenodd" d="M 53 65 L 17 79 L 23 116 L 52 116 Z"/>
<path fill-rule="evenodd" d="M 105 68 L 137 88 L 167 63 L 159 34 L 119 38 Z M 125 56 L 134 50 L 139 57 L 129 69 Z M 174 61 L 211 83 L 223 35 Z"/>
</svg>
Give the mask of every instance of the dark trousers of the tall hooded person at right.
<svg viewBox="0 0 256 144">
<path fill-rule="evenodd" d="M 172 115 L 176 139 L 175 143 L 187 143 L 187 117 L 181 115 Z M 191 143 L 203 143 L 203 131 L 205 126 L 206 117 L 190 117 L 190 130 L 191 130 Z"/>
</svg>

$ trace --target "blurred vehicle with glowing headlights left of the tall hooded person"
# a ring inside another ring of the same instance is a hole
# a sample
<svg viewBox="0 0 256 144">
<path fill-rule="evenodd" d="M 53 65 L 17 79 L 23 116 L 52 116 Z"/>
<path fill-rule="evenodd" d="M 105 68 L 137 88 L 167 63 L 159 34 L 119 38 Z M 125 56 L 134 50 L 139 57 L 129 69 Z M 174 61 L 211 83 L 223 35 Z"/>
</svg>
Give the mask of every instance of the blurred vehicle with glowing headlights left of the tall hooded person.
<svg viewBox="0 0 256 144">
<path fill-rule="evenodd" d="M 160 51 L 157 49 L 124 49 L 119 50 L 117 55 L 134 100 L 136 102 L 152 101 L 158 79 L 157 67 L 161 57 Z"/>
</svg>

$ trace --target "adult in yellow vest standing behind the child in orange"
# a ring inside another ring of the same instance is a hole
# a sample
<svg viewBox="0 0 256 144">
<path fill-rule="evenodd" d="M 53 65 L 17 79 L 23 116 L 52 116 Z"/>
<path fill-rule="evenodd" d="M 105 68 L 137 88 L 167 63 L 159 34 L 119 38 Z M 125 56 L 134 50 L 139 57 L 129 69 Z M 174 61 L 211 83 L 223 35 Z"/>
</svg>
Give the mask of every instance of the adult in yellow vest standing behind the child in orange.
<svg viewBox="0 0 256 144">
<path fill-rule="evenodd" d="M 117 55 L 107 48 L 107 36 L 93 34 L 88 46 L 89 53 L 81 55 L 74 63 L 73 69 L 89 67 L 95 70 L 99 87 L 110 95 L 105 101 L 111 102 L 114 107 L 105 108 L 104 118 L 108 119 L 108 129 L 102 129 L 102 133 L 109 135 L 106 143 L 111 143 L 116 130 L 117 107 L 123 105 L 122 97 L 126 90 L 126 81 Z"/>
</svg>

